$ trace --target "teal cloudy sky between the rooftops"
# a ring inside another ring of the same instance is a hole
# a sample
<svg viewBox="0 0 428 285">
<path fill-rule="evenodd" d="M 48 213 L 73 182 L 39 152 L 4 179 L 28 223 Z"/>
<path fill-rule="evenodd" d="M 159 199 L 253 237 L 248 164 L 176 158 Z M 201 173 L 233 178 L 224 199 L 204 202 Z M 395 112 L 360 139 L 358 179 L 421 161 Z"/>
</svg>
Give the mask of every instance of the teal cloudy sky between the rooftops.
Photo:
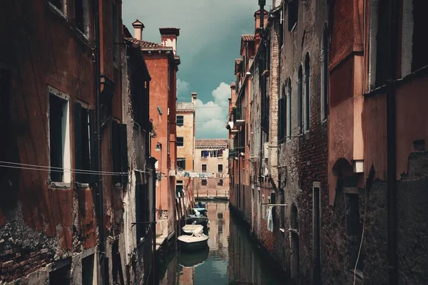
<svg viewBox="0 0 428 285">
<path fill-rule="evenodd" d="M 235 58 L 240 58 L 240 35 L 254 33 L 258 0 L 125 0 L 123 24 L 143 22 L 143 40 L 161 42 L 159 28 L 180 28 L 177 54 L 179 102 L 198 93 L 196 138 L 227 138 L 230 83 L 235 81 Z M 267 7 L 268 8 L 268 7 Z"/>
</svg>

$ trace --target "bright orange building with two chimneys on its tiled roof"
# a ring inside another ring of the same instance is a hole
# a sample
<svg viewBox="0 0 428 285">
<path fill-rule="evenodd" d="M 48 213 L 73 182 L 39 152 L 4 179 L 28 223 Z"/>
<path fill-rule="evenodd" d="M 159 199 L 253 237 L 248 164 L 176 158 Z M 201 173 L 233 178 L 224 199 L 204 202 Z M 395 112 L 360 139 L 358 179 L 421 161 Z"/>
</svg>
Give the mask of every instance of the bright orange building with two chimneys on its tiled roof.
<svg viewBox="0 0 428 285">
<path fill-rule="evenodd" d="M 177 54 L 179 28 L 159 28 L 161 43 L 143 40 L 144 25 L 133 23 L 134 36 L 129 41 L 141 46 L 151 74 L 150 117 L 153 120 L 151 153 L 158 160 L 156 171 L 156 232 L 163 237 L 175 232 L 175 166 L 177 162 L 176 90 L 180 57 Z"/>
</svg>

